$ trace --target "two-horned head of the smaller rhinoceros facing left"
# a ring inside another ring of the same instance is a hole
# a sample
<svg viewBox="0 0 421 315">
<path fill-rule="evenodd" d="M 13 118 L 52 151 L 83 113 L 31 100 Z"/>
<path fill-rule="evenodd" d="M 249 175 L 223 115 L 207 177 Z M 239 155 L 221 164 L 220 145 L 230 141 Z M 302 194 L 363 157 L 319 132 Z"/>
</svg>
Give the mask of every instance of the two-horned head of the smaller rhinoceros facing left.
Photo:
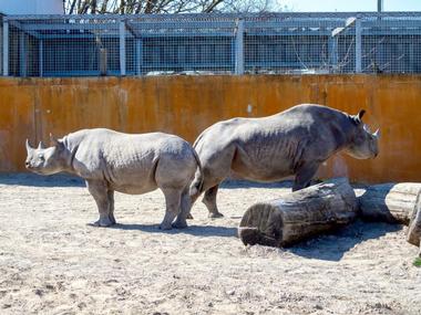
<svg viewBox="0 0 421 315">
<path fill-rule="evenodd" d="M 51 175 L 64 170 L 68 153 L 62 141 L 57 140 L 51 134 L 51 146 L 44 147 L 40 141 L 38 148 L 32 148 L 27 139 L 27 160 L 28 170 Z"/>
</svg>

